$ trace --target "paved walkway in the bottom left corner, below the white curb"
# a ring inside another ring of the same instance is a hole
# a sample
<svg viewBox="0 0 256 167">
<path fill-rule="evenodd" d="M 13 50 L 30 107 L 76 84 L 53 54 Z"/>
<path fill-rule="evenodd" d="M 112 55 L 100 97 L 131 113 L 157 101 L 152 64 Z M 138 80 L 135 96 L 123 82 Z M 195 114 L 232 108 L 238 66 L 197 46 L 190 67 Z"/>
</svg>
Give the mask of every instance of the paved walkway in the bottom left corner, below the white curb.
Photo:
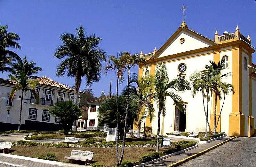
<svg viewBox="0 0 256 167">
<path fill-rule="evenodd" d="M 18 158 L 10 158 L 10 157 L 5 157 L 0 155 L 0 161 L 6 162 L 6 163 L 12 163 L 12 164 L 18 164 L 18 165 L 23 165 L 27 167 L 60 167 L 57 165 L 52 165 L 52 164 L 47 164 L 47 163 L 38 163 L 38 162 L 33 162 L 33 161 L 28 161 L 24 159 L 18 159 Z M 1 164 L 3 165 L 3 164 Z M 4 166 L 4 165 L 3 165 Z M 6 165 L 9 166 L 9 165 Z"/>
</svg>

